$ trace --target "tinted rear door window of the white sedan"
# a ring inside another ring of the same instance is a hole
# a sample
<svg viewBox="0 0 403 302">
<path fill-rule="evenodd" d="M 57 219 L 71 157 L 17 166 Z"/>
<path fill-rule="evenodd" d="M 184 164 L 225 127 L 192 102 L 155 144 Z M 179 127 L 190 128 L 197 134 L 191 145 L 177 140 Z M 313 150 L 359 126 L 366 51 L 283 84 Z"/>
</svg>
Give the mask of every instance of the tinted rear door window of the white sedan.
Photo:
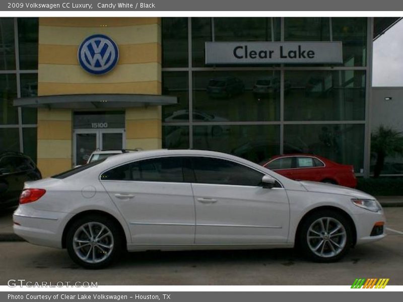
<svg viewBox="0 0 403 302">
<path fill-rule="evenodd" d="M 182 159 L 171 157 L 128 163 L 106 171 L 101 180 L 183 182 Z"/>
</svg>

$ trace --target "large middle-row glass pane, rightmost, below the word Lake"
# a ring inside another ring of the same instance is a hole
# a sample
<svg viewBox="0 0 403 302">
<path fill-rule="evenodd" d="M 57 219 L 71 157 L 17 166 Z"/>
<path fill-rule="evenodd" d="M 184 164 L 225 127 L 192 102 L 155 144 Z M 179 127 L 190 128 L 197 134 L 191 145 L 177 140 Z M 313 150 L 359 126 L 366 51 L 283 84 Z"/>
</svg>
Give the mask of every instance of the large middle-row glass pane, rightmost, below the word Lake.
<svg viewBox="0 0 403 302">
<path fill-rule="evenodd" d="M 365 71 L 285 71 L 284 118 L 364 120 Z"/>
</svg>

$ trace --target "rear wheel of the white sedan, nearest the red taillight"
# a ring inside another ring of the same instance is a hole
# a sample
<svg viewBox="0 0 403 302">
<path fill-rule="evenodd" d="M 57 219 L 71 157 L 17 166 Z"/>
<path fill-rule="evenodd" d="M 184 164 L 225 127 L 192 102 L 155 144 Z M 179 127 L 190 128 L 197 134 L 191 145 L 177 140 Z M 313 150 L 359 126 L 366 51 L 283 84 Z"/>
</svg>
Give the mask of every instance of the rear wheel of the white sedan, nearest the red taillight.
<svg viewBox="0 0 403 302">
<path fill-rule="evenodd" d="M 119 258 L 123 246 L 122 234 L 117 223 L 110 218 L 84 216 L 74 221 L 69 229 L 66 235 L 67 251 L 80 266 L 100 269 Z"/>
</svg>

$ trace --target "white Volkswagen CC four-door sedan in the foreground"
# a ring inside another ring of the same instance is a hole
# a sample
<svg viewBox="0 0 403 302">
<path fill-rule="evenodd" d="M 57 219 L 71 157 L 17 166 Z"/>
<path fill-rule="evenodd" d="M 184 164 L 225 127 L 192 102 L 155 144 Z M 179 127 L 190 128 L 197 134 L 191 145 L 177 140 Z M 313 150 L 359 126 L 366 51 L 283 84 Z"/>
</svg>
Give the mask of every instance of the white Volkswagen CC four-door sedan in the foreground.
<svg viewBox="0 0 403 302">
<path fill-rule="evenodd" d="M 124 249 L 297 245 L 331 262 L 385 236 L 382 208 L 368 194 L 205 150 L 127 153 L 27 182 L 13 218 L 17 235 L 66 248 L 87 268 L 109 265 Z"/>
</svg>

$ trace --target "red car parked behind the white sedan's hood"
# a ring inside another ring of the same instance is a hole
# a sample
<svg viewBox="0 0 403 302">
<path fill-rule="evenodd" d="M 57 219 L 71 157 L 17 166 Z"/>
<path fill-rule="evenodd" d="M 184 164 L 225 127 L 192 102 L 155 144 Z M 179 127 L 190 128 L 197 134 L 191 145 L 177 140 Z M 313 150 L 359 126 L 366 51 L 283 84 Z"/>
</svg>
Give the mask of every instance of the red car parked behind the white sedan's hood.
<svg viewBox="0 0 403 302">
<path fill-rule="evenodd" d="M 272 157 L 263 167 L 294 180 L 311 180 L 355 188 L 353 166 L 334 163 L 310 154 L 287 154 Z"/>
</svg>

